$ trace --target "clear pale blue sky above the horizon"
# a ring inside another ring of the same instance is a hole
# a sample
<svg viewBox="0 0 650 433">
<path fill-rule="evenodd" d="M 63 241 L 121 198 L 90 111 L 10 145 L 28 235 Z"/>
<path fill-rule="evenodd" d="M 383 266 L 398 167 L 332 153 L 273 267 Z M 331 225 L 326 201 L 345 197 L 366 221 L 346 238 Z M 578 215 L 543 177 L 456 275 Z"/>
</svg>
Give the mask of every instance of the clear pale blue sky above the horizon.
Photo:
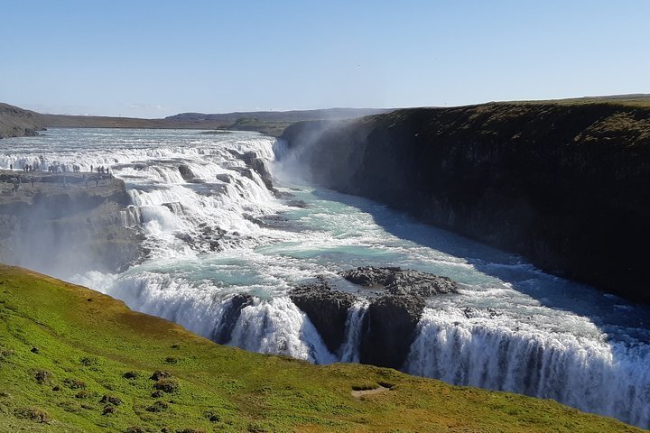
<svg viewBox="0 0 650 433">
<path fill-rule="evenodd" d="M 0 55 L 60 114 L 650 93 L 650 1 L 0 0 Z"/>
</svg>

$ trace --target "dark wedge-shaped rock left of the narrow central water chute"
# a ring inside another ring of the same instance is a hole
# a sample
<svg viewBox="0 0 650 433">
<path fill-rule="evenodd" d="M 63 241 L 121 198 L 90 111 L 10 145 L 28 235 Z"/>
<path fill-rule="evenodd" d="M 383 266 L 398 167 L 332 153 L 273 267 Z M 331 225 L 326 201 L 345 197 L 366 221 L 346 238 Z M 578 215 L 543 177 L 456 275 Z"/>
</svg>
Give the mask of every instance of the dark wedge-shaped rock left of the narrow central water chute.
<svg viewBox="0 0 650 433">
<path fill-rule="evenodd" d="M 322 280 L 298 286 L 292 290 L 290 298 L 310 318 L 330 352 L 336 352 L 345 337 L 348 309 L 357 298 L 350 293 L 332 290 Z"/>
</svg>

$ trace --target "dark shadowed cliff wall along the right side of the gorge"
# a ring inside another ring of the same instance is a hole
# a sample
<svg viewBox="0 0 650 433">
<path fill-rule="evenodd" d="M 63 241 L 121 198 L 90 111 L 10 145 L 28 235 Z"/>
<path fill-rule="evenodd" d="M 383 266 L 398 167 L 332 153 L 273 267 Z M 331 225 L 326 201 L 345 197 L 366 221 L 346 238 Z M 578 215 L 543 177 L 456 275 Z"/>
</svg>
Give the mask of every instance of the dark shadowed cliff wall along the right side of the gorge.
<svg viewBox="0 0 650 433">
<path fill-rule="evenodd" d="M 650 106 L 404 109 L 283 138 L 318 184 L 650 302 Z"/>
</svg>

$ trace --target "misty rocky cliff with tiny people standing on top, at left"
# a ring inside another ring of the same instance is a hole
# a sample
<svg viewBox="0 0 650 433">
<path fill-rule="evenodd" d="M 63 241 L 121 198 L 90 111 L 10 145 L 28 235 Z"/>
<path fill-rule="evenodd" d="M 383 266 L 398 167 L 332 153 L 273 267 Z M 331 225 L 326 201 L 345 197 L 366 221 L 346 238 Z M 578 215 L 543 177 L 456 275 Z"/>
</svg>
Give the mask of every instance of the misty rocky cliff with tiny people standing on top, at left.
<svg viewBox="0 0 650 433">
<path fill-rule="evenodd" d="M 116 272 L 143 253 L 130 204 L 121 180 L 0 171 L 0 262 L 61 277 Z"/>
</svg>

